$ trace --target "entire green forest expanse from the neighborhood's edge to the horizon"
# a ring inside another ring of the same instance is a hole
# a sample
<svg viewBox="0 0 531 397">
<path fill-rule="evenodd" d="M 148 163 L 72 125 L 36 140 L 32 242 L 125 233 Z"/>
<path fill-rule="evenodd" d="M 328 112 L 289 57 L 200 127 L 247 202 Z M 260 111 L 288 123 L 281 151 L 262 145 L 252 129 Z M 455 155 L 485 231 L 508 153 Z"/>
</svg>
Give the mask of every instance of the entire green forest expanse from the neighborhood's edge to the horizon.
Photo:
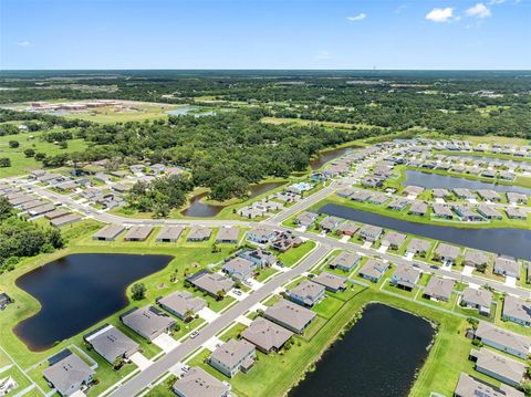
<svg viewBox="0 0 531 397">
<path fill-rule="evenodd" d="M 358 138 L 419 132 L 531 138 L 531 76 L 523 72 L 3 71 L 0 86 L 3 104 L 116 98 L 230 108 L 115 124 L 0 111 L 0 136 L 19 134 L 9 122 L 23 121 L 60 147 L 85 140 L 82 152 L 24 153 L 44 167 L 101 159 L 181 167 L 185 176 L 139 184 L 131 194 L 133 207 L 160 216 L 195 187 L 217 200 L 242 197 L 250 184 L 303 171 L 319 150 Z M 264 117 L 341 124 L 269 124 Z"/>
</svg>

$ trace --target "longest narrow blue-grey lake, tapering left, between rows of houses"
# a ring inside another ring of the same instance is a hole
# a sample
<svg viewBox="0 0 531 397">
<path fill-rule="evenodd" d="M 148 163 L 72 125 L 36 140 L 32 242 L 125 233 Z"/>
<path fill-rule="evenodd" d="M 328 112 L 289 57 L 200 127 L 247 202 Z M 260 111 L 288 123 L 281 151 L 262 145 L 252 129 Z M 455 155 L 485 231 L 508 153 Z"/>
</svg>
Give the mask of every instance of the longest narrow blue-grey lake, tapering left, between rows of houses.
<svg viewBox="0 0 531 397">
<path fill-rule="evenodd" d="M 333 203 L 324 205 L 319 212 L 362 223 L 375 224 L 404 233 L 418 234 L 478 250 L 531 260 L 531 230 L 510 228 L 470 229 L 426 224 L 386 217 Z"/>
</svg>

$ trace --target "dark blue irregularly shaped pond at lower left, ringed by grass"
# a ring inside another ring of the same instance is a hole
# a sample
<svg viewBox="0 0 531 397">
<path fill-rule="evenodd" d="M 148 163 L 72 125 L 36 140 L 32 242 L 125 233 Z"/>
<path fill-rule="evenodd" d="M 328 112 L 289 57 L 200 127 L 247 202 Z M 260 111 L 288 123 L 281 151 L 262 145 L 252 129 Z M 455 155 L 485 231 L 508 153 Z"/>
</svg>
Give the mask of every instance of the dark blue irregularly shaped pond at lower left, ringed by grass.
<svg viewBox="0 0 531 397">
<path fill-rule="evenodd" d="M 31 351 L 45 351 L 127 306 L 127 285 L 163 270 L 171 259 L 80 253 L 34 269 L 17 279 L 17 286 L 42 307 L 17 324 L 14 333 Z"/>
</svg>

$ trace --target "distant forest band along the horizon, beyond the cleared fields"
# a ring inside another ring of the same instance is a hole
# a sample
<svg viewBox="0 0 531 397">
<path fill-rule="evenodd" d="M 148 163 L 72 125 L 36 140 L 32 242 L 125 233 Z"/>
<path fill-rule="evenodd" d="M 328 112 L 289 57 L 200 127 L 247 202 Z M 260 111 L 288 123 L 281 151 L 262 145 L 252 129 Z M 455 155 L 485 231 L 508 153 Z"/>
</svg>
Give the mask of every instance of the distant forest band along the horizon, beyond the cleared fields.
<svg viewBox="0 0 531 397">
<path fill-rule="evenodd" d="M 60 73 L 60 74 L 58 74 Z M 101 71 L 1 72 L 2 103 L 122 98 L 260 106 L 270 116 L 393 130 L 531 137 L 523 72 Z"/>
</svg>

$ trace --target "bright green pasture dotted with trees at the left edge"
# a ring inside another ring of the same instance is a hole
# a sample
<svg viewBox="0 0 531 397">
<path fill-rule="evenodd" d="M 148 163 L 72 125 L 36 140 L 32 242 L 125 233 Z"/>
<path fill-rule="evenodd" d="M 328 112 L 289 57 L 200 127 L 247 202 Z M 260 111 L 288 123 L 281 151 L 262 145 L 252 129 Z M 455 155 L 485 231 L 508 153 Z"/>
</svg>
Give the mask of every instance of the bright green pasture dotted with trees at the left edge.
<svg viewBox="0 0 531 397">
<path fill-rule="evenodd" d="M 44 132 L 41 130 L 0 136 L 0 157 L 8 157 L 11 160 L 11 167 L 0 168 L 0 178 L 23 175 L 28 174 L 29 170 L 42 168 L 42 163 L 37 161 L 33 157 L 24 156 L 25 149 L 33 149 L 45 153 L 48 156 L 54 156 L 61 153 L 82 152 L 86 148 L 86 143 L 83 139 L 71 139 L 67 140 L 69 147 L 62 149 L 53 143 L 41 140 L 40 136 Z M 10 140 L 18 140 L 20 146 L 17 148 L 9 147 Z"/>
</svg>

